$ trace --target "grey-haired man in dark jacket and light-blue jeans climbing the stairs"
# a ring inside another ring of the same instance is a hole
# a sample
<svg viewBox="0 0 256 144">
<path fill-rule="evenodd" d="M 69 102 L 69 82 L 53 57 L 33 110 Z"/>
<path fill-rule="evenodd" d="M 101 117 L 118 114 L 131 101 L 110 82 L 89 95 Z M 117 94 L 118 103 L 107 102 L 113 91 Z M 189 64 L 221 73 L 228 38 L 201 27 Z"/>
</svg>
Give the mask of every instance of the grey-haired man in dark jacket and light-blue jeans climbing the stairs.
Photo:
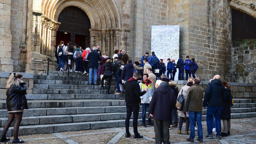
<svg viewBox="0 0 256 144">
<path fill-rule="evenodd" d="M 97 69 L 99 67 L 100 56 L 99 53 L 96 52 L 96 47 L 93 47 L 93 51 L 90 52 L 87 56 L 87 60 L 89 61 L 89 85 L 93 85 L 92 79 L 94 75 L 94 85 L 97 84 Z"/>
</svg>

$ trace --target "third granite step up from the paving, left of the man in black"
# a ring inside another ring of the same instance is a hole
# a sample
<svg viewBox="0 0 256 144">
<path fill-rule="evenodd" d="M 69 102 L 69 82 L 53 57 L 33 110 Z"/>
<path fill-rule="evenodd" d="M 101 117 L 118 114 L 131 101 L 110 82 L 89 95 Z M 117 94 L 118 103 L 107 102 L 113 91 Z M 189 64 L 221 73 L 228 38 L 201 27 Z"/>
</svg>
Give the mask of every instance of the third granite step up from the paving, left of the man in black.
<svg viewBox="0 0 256 144">
<path fill-rule="evenodd" d="M 142 111 L 142 106 L 140 106 Z M 126 106 L 91 106 L 91 107 L 65 107 L 65 108 L 31 108 L 26 109 L 24 117 L 46 116 L 46 115 L 75 115 L 75 114 L 96 114 L 96 113 L 125 113 Z M 8 117 L 6 109 L 0 109 L 2 118 Z"/>
</svg>

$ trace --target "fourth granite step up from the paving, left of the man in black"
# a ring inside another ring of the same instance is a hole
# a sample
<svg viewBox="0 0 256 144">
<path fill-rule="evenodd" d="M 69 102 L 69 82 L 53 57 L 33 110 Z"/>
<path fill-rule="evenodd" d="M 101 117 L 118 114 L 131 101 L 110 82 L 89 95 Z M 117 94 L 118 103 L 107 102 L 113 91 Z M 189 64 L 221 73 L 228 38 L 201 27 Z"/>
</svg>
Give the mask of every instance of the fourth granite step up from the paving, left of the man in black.
<svg viewBox="0 0 256 144">
<path fill-rule="evenodd" d="M 28 100 L 28 106 L 30 109 L 93 106 L 125 106 L 125 101 L 118 99 Z M 6 100 L 0 100 L 0 109 L 7 109 Z"/>
</svg>

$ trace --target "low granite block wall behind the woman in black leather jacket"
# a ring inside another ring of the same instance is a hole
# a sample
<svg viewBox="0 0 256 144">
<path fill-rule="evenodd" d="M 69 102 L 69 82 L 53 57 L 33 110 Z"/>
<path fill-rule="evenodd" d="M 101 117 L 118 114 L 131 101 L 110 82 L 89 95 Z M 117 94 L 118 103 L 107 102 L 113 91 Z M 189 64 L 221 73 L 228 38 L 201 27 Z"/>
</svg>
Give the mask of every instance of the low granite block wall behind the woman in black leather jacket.
<svg viewBox="0 0 256 144">
<path fill-rule="evenodd" d="M 6 99 L 6 83 L 10 77 L 11 72 L 0 72 L 0 99 Z M 33 94 L 33 73 L 20 73 L 22 80 L 27 84 L 27 93 Z"/>
</svg>

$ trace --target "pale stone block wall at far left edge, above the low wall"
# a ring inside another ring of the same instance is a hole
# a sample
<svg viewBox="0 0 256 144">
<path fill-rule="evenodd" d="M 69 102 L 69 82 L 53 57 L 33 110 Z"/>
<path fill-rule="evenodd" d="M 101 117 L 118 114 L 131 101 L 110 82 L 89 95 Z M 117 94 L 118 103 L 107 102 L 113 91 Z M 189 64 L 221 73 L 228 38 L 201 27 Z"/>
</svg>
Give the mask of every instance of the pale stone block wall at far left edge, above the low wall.
<svg viewBox="0 0 256 144">
<path fill-rule="evenodd" d="M 12 30 L 11 1 L 1 0 L 0 2 L 0 71 L 13 71 L 12 51 Z"/>
</svg>

